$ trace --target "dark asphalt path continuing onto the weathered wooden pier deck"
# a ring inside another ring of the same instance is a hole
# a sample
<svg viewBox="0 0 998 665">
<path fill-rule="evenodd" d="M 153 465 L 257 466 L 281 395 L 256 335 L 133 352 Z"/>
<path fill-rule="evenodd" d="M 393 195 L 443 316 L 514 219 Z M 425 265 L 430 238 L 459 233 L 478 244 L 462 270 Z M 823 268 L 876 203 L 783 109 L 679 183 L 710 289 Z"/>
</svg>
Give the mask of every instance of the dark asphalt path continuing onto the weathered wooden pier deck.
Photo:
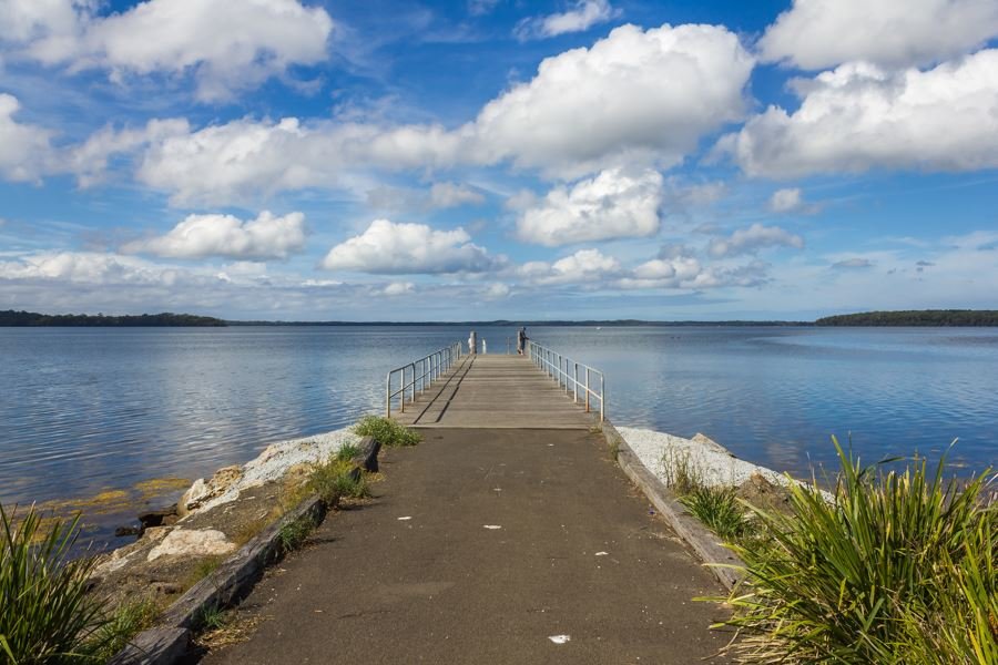
<svg viewBox="0 0 998 665">
<path fill-rule="evenodd" d="M 710 572 L 613 462 L 593 419 L 528 358 L 466 357 L 393 413 L 374 500 L 330 515 L 203 663 L 656 663 L 729 634 Z M 414 408 L 415 407 L 415 408 Z M 598 420 L 598 419 L 597 419 Z M 724 658 L 711 663 L 726 663 Z"/>
</svg>

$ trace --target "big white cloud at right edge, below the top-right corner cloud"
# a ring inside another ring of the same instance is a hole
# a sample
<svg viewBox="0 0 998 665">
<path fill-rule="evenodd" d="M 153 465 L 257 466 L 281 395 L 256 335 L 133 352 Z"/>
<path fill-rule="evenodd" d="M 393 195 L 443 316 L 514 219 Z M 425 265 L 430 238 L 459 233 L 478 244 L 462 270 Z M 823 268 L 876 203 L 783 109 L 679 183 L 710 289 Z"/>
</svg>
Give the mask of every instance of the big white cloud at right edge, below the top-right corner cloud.
<svg viewBox="0 0 998 665">
<path fill-rule="evenodd" d="M 720 142 L 748 175 L 998 166 L 998 50 L 925 72 L 844 64 L 797 89 L 797 111 L 770 106 Z"/>
</svg>

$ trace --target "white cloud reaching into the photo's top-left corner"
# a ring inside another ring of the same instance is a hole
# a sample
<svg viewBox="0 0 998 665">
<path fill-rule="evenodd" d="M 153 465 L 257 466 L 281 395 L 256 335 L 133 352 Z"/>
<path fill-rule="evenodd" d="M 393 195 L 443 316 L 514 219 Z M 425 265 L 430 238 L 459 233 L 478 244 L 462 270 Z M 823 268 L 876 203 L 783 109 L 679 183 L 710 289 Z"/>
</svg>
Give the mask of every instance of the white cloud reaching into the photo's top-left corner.
<svg viewBox="0 0 998 665">
<path fill-rule="evenodd" d="M 146 0 L 110 16 L 99 14 L 96 6 L 0 0 L 0 19 L 12 20 L 23 57 L 70 71 L 104 69 L 116 81 L 193 73 L 197 96 L 207 101 L 258 85 L 293 64 L 325 60 L 333 30 L 325 9 L 297 0 Z"/>
</svg>

